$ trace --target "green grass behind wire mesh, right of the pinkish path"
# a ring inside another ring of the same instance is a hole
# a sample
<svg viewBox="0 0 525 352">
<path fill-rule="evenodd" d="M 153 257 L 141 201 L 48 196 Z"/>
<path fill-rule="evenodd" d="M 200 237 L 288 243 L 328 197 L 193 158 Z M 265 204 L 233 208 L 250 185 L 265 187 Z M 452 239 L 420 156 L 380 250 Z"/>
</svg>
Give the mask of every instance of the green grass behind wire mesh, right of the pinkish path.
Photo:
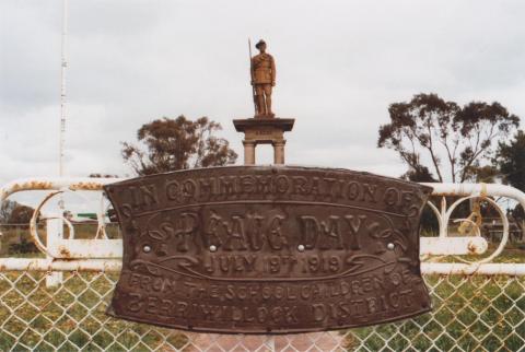
<svg viewBox="0 0 525 352">
<path fill-rule="evenodd" d="M 523 351 L 525 279 L 425 275 L 433 310 L 413 319 L 345 331 L 346 348 L 372 351 Z M 385 342 L 387 340 L 388 342 Z M 434 348 L 435 347 L 435 348 Z"/>
</svg>

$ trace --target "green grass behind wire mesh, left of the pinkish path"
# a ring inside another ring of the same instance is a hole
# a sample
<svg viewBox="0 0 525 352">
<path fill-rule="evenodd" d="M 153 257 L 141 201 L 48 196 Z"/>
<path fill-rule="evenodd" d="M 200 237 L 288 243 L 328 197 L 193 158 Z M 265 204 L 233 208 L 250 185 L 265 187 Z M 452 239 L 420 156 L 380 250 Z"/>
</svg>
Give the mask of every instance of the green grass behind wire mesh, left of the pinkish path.
<svg viewBox="0 0 525 352">
<path fill-rule="evenodd" d="M 46 288 L 45 275 L 0 274 L 0 351 L 170 351 L 188 341 L 176 330 L 106 316 L 117 274 L 65 273 L 56 290 Z"/>
</svg>

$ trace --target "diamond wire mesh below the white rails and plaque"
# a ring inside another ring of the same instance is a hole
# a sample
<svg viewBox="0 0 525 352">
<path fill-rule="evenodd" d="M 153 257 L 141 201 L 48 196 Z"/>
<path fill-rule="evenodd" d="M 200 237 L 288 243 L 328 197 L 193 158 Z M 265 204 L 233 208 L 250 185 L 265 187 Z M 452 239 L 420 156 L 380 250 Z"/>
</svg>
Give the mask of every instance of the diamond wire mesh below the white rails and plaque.
<svg viewBox="0 0 525 352">
<path fill-rule="evenodd" d="M 427 274 L 433 310 L 366 328 L 290 336 L 192 333 L 105 315 L 118 274 L 0 272 L 1 351 L 523 351 L 525 277 Z"/>
</svg>

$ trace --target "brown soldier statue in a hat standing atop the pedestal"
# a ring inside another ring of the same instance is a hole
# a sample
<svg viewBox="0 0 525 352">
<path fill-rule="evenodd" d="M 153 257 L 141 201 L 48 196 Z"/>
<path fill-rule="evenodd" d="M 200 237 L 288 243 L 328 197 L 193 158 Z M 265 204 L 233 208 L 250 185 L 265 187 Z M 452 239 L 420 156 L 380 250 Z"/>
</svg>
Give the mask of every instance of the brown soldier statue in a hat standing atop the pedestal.
<svg viewBox="0 0 525 352">
<path fill-rule="evenodd" d="M 255 47 L 260 51 L 252 58 L 252 85 L 254 87 L 256 117 L 273 117 L 271 112 L 271 87 L 276 85 L 276 62 L 266 52 L 265 40 Z"/>
</svg>

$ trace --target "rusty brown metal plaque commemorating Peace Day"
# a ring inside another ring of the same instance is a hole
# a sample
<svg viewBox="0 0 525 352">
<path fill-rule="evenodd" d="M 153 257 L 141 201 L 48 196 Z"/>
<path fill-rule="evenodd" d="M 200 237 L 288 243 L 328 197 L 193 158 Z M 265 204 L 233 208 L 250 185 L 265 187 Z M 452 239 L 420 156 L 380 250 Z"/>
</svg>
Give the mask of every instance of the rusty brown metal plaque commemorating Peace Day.
<svg viewBox="0 0 525 352">
<path fill-rule="evenodd" d="M 124 233 L 112 316 L 290 333 L 431 309 L 418 236 L 430 187 L 347 169 L 233 166 L 105 190 Z"/>
</svg>

